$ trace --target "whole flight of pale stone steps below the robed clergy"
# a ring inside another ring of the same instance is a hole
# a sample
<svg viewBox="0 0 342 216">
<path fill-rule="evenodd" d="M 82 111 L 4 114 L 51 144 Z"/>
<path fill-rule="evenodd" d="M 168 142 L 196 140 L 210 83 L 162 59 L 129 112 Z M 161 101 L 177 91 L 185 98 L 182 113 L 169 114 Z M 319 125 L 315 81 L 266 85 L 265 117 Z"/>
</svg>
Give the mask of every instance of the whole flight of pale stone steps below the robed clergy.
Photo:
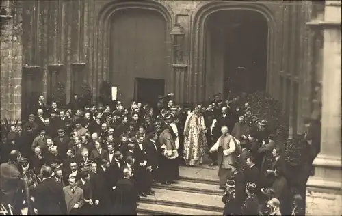
<svg viewBox="0 0 342 216">
<path fill-rule="evenodd" d="M 153 186 L 155 196 L 140 198 L 138 215 L 222 215 L 222 190 L 218 170 L 179 167 L 178 184 Z"/>
</svg>

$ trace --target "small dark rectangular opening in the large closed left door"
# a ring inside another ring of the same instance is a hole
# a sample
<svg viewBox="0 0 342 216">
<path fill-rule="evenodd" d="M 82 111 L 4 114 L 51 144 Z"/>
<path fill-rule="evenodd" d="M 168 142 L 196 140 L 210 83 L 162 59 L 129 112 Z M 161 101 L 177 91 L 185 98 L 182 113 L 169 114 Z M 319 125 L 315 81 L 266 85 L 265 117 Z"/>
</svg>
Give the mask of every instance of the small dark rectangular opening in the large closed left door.
<svg viewBox="0 0 342 216">
<path fill-rule="evenodd" d="M 135 100 L 154 106 L 159 95 L 164 95 L 165 80 L 135 78 Z"/>
</svg>

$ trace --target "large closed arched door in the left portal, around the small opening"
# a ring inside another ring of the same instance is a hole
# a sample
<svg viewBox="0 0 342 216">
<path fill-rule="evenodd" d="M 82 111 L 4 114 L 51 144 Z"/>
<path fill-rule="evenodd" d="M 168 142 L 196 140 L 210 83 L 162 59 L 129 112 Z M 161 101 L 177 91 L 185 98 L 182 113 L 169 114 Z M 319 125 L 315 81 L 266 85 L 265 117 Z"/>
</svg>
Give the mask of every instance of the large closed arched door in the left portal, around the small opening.
<svg viewBox="0 0 342 216">
<path fill-rule="evenodd" d="M 109 79 L 118 86 L 123 103 L 134 97 L 135 78 L 167 79 L 168 37 L 159 12 L 129 9 L 111 21 Z"/>
</svg>

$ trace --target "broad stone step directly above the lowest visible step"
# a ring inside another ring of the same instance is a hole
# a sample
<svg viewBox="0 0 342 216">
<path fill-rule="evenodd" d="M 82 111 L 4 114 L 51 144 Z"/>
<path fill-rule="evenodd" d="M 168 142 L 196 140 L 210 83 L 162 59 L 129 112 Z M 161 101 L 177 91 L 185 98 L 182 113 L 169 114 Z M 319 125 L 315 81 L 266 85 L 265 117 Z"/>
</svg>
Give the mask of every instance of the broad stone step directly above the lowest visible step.
<svg viewBox="0 0 342 216">
<path fill-rule="evenodd" d="M 140 198 L 140 203 L 176 206 L 181 208 L 194 208 L 205 211 L 223 213 L 224 204 L 221 195 L 202 193 L 188 193 L 183 191 L 170 191 L 167 189 L 154 189 L 155 196 Z"/>
</svg>

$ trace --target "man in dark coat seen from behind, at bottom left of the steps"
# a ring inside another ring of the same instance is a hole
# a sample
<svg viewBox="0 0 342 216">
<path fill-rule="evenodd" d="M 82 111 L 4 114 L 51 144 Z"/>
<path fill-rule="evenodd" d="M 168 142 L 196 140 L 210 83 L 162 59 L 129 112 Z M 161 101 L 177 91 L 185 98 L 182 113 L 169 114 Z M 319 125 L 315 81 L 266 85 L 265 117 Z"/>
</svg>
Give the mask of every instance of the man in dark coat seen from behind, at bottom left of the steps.
<svg viewBox="0 0 342 216">
<path fill-rule="evenodd" d="M 123 170 L 124 178 L 118 180 L 114 197 L 114 215 L 137 215 L 137 195 L 130 180 L 131 172 Z"/>
</svg>

